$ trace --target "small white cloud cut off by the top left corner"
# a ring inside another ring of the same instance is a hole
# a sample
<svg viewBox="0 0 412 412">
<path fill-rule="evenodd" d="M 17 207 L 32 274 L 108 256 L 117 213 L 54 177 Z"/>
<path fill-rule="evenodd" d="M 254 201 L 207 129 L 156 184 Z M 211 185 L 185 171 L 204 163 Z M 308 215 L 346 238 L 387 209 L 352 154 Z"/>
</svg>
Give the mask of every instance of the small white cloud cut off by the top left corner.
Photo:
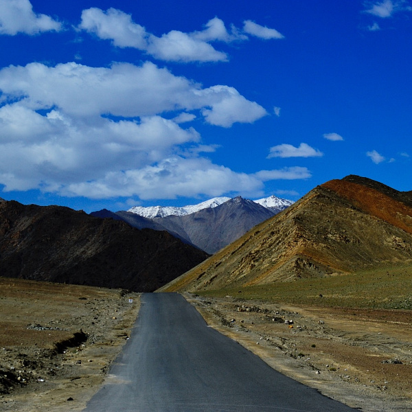
<svg viewBox="0 0 412 412">
<path fill-rule="evenodd" d="M 62 25 L 46 14 L 33 11 L 29 0 L 0 0 L 0 34 L 38 34 L 60 31 Z"/>
</svg>

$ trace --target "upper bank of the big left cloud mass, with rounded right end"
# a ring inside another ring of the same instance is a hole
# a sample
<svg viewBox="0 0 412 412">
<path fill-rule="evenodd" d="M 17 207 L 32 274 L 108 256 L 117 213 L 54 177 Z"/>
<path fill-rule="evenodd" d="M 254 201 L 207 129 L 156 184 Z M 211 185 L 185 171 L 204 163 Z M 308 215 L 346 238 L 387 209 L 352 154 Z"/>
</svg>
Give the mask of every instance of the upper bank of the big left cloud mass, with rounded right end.
<svg viewBox="0 0 412 412">
<path fill-rule="evenodd" d="M 57 106 L 66 114 L 83 118 L 103 114 L 150 116 L 187 109 L 201 110 L 210 124 L 229 127 L 266 115 L 262 106 L 233 87 L 202 89 L 200 84 L 174 76 L 151 62 L 141 66 L 118 63 L 109 68 L 74 62 L 56 67 L 41 63 L 10 66 L 0 70 L 0 89 L 34 110 Z"/>
</svg>

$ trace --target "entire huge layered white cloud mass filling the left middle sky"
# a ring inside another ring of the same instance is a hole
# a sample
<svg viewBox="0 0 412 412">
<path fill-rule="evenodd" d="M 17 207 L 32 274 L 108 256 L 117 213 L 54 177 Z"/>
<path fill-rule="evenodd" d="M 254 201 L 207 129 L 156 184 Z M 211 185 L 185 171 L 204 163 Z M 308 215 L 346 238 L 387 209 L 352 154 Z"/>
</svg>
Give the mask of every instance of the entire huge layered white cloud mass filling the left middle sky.
<svg viewBox="0 0 412 412">
<path fill-rule="evenodd" d="M 202 157 L 200 117 L 229 127 L 264 108 L 228 86 L 203 89 L 146 62 L 112 67 L 31 63 L 0 70 L 0 184 L 62 196 L 260 196 L 264 181 L 304 170 L 233 172 Z M 175 117 L 162 117 L 165 112 Z M 180 112 L 180 113 L 179 113 Z M 195 112 L 190 113 L 190 112 Z"/>
</svg>

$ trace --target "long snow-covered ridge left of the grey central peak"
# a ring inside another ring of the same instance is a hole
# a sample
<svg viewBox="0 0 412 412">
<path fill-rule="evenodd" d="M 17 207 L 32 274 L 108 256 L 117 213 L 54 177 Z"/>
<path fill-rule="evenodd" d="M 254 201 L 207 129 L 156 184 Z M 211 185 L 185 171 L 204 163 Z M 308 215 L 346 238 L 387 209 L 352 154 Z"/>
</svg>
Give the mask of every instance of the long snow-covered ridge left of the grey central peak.
<svg viewBox="0 0 412 412">
<path fill-rule="evenodd" d="M 165 218 L 166 216 L 186 216 L 188 214 L 192 214 L 196 211 L 206 209 L 207 207 L 216 207 L 218 205 L 222 205 L 230 201 L 228 197 L 217 197 L 209 199 L 209 201 L 205 201 L 202 203 L 198 203 L 198 205 L 188 205 L 183 207 L 173 207 L 173 206 L 149 206 L 149 207 L 141 207 L 135 206 L 128 211 L 132 213 L 138 214 L 143 216 L 144 218 L 153 219 L 153 218 Z"/>
</svg>

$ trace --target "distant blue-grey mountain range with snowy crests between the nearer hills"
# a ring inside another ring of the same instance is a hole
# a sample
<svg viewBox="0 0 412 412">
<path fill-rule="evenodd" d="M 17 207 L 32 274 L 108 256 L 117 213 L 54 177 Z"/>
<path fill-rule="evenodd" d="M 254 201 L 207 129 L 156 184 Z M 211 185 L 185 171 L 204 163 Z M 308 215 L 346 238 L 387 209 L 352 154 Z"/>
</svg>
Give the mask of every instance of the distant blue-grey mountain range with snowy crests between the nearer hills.
<svg viewBox="0 0 412 412">
<path fill-rule="evenodd" d="M 233 199 L 212 198 L 184 207 L 132 207 L 115 213 L 103 209 L 92 215 L 122 219 L 139 229 L 166 230 L 183 242 L 213 254 L 292 204 L 293 201 L 276 196 L 258 201 L 238 196 Z"/>
</svg>

